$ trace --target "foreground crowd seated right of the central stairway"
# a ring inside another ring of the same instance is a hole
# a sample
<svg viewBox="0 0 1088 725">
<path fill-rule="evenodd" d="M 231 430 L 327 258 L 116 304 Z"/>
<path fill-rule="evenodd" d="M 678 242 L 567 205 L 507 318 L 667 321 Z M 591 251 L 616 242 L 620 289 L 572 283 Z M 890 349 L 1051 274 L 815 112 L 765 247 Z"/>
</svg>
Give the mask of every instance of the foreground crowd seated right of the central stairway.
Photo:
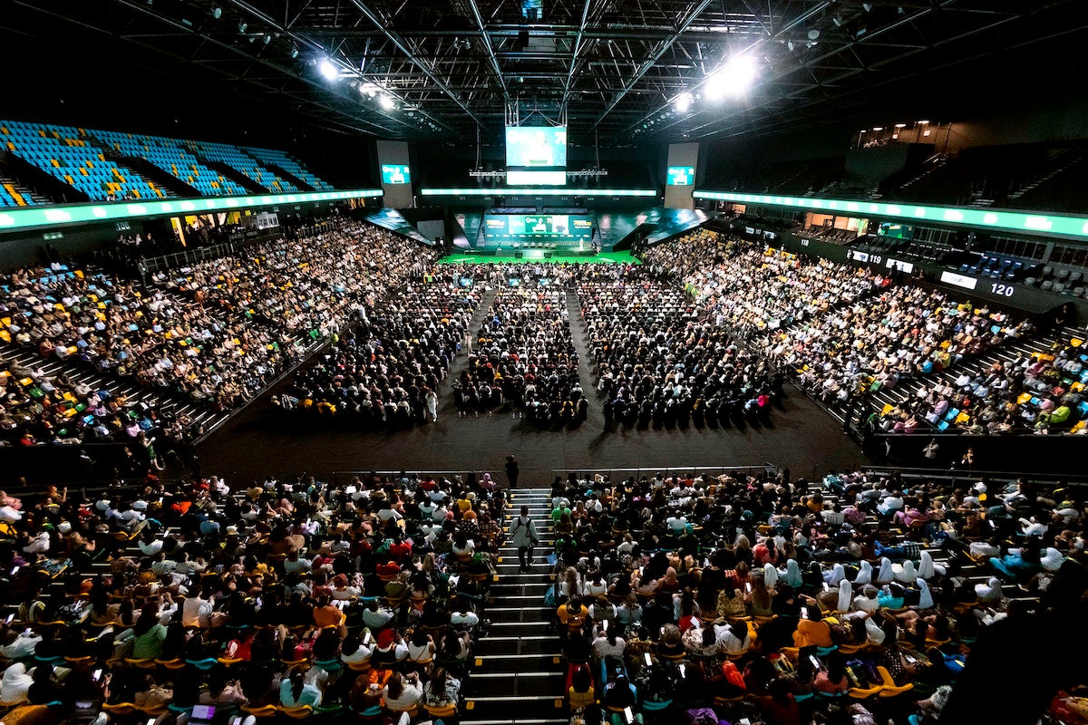
<svg viewBox="0 0 1088 725">
<path fill-rule="evenodd" d="M 977 702 L 1015 666 L 1009 637 L 1056 636 L 1084 614 L 1072 489 L 571 474 L 553 503 L 545 603 L 581 722 L 955 723 L 1002 708 L 1002 722 L 1034 722 L 1011 713 L 1088 675 L 1040 684 L 1034 703 Z"/>
</svg>

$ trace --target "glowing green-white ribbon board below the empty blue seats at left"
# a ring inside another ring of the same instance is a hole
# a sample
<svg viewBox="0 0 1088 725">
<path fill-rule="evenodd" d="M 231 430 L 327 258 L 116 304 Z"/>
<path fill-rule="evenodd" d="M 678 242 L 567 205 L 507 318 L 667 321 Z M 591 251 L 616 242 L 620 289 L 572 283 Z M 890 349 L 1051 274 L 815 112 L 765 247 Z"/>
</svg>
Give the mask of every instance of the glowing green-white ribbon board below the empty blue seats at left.
<svg viewBox="0 0 1088 725">
<path fill-rule="evenodd" d="M 76 204 L 70 207 L 23 207 L 0 210 L 0 233 L 36 226 L 81 224 L 133 218 L 138 216 L 168 216 L 173 214 L 206 214 L 208 212 L 271 207 L 274 204 L 336 201 L 381 197 L 381 189 L 353 191 L 312 191 L 274 193 L 256 197 L 210 197 L 197 199 L 170 199 L 156 201 L 114 201 L 104 204 Z"/>
</svg>

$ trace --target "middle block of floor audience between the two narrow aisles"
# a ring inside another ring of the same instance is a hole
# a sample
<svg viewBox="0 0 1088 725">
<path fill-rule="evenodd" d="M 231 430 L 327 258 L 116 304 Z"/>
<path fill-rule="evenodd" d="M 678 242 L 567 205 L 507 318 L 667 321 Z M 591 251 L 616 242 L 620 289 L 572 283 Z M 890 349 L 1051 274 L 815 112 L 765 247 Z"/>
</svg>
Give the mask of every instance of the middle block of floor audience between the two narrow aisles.
<svg viewBox="0 0 1088 725">
<path fill-rule="evenodd" d="M 490 415 L 508 402 L 511 414 L 543 426 L 584 421 L 588 401 L 567 310 L 567 286 L 578 270 L 521 264 L 466 267 L 459 274 L 491 277 L 496 286 L 475 330 L 468 367 L 455 385 L 459 414 Z"/>
</svg>

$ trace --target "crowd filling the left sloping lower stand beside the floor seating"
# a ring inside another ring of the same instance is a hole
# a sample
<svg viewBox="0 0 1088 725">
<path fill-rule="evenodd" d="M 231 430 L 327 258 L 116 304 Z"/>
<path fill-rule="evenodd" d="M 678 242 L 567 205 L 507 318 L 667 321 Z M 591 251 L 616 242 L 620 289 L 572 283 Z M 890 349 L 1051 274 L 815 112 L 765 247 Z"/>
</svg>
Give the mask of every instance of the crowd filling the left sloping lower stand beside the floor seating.
<svg viewBox="0 0 1088 725">
<path fill-rule="evenodd" d="M 312 236 L 280 238 L 149 285 L 60 262 L 0 278 L 0 339 L 41 362 L 0 371 L 5 443 L 151 439 L 188 425 L 171 400 L 219 411 L 243 405 L 316 341 L 334 338 L 390 290 L 421 278 L 433 259 L 384 229 L 334 220 Z M 78 376 L 77 376 L 78 377 Z M 139 405 L 111 390 L 119 377 L 158 397 Z M 129 428 L 134 426 L 138 429 Z"/>
</svg>

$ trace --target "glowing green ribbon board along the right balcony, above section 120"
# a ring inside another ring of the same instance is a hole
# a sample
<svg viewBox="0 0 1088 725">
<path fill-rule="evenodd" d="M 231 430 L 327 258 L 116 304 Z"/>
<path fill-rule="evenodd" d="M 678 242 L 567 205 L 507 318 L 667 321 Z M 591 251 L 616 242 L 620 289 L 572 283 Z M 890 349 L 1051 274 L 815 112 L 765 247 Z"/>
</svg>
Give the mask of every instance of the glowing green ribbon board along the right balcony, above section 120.
<svg viewBox="0 0 1088 725">
<path fill-rule="evenodd" d="M 764 204 L 768 207 L 793 207 L 808 211 L 841 212 L 843 214 L 871 214 L 889 218 L 908 220 L 915 223 L 955 224 L 982 229 L 1019 232 L 1050 236 L 1088 238 L 1088 216 L 1066 216 L 1062 214 L 1028 214 L 1025 212 L 997 211 L 992 208 L 973 207 L 916 207 L 893 202 L 850 201 L 846 199 L 809 199 L 807 197 L 775 197 L 759 193 L 738 193 L 734 191 L 700 191 L 696 199 L 713 201 L 735 201 L 739 203 Z"/>
</svg>

